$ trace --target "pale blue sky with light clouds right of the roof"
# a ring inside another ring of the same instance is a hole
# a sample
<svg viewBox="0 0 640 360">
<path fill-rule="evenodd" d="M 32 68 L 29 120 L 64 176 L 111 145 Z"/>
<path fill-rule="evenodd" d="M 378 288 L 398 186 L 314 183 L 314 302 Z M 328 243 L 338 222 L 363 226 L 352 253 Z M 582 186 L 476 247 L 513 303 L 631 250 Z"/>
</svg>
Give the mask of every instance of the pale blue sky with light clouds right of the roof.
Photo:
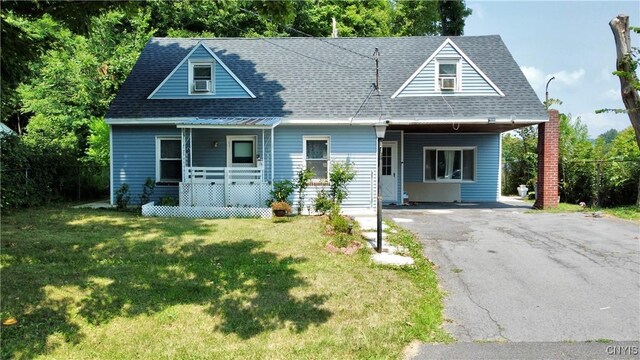
<svg viewBox="0 0 640 360">
<path fill-rule="evenodd" d="M 473 14 L 464 35 L 500 35 L 540 100 L 563 104 L 554 108 L 580 117 L 592 138 L 609 129 L 631 126 L 626 114 L 596 114 L 597 109 L 624 108 L 620 81 L 611 74 L 616 49 L 609 21 L 629 15 L 640 26 L 640 1 L 478 1 L 467 0 Z M 640 46 L 632 33 L 631 45 Z"/>
</svg>

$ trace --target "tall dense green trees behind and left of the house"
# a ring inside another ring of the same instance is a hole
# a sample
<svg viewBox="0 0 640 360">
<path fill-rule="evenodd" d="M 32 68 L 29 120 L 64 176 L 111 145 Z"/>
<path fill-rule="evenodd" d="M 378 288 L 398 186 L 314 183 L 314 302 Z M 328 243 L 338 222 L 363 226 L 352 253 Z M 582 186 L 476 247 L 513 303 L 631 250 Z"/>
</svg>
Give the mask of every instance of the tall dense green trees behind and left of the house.
<svg viewBox="0 0 640 360">
<path fill-rule="evenodd" d="M 104 116 L 152 36 L 326 37 L 332 18 L 341 37 L 442 28 L 435 0 L 6 1 L 0 15 L 1 120 L 22 135 L 20 147 L 68 166 L 108 166 Z M 464 24 L 468 15 L 458 11 L 453 20 Z M 19 163 L 8 154 L 4 163 Z"/>
</svg>

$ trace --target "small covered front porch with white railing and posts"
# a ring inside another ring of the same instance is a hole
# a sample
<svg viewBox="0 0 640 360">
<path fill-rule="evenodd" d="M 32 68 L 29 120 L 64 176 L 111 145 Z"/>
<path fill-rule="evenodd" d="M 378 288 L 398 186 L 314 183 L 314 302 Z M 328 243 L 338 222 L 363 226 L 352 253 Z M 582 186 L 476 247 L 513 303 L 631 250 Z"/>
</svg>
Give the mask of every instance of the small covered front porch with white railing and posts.
<svg viewBox="0 0 640 360">
<path fill-rule="evenodd" d="M 180 206 L 267 208 L 277 118 L 197 119 L 182 130 Z"/>
</svg>

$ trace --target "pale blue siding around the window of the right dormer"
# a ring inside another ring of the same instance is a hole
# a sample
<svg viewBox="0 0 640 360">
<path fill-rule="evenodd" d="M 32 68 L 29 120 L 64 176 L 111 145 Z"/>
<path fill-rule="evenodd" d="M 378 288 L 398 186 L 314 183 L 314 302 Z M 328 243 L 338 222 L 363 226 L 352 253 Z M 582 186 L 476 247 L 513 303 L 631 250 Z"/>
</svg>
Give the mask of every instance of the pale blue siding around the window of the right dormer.
<svg viewBox="0 0 640 360">
<path fill-rule="evenodd" d="M 438 56 L 461 58 L 461 90 L 452 94 L 447 93 L 447 96 L 499 95 L 451 45 L 447 45 L 442 48 L 436 57 L 398 94 L 398 97 L 441 95 L 439 91 L 436 91 L 437 76 L 435 64 Z"/>
</svg>

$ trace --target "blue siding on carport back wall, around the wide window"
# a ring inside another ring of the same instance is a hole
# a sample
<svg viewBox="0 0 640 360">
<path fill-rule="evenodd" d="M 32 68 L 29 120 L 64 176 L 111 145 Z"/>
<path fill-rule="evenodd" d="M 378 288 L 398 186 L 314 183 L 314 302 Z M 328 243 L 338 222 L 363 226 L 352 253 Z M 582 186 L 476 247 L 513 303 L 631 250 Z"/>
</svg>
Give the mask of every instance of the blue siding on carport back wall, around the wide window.
<svg viewBox="0 0 640 360">
<path fill-rule="evenodd" d="M 423 147 L 476 147 L 476 181 L 461 184 L 462 201 L 496 201 L 500 160 L 500 134 L 407 134 L 404 135 L 406 182 L 423 181 Z"/>
</svg>

